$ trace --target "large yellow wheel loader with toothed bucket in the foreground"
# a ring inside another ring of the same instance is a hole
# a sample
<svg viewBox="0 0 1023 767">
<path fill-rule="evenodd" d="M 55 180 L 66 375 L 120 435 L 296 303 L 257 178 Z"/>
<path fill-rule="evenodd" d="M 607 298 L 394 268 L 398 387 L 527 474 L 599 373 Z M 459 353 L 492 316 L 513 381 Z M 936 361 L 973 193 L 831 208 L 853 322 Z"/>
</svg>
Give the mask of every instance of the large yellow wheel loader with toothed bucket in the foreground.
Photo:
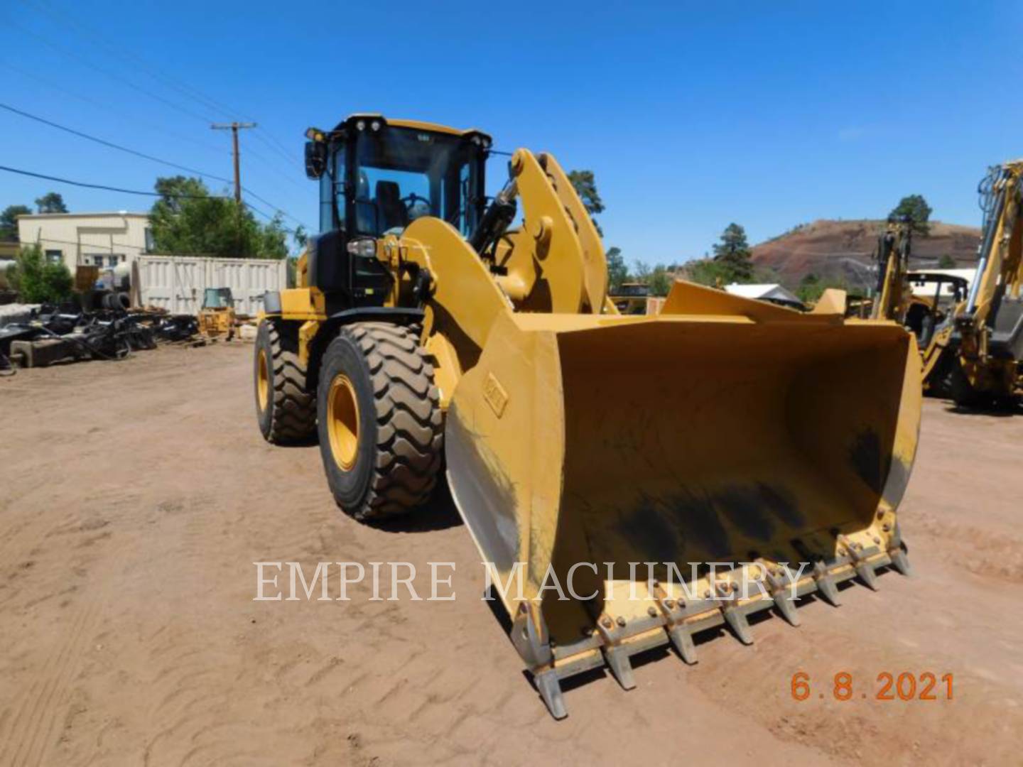
<svg viewBox="0 0 1023 767">
<path fill-rule="evenodd" d="M 256 409 L 318 438 L 347 513 L 415 513 L 446 481 L 550 713 L 561 680 L 751 614 L 905 573 L 895 508 L 920 359 L 890 321 L 676 282 L 653 316 L 607 297 L 601 240 L 549 154 L 354 115 L 310 129 L 320 233 L 268 294 Z M 516 225 L 521 213 L 521 225 Z M 613 364 L 609 364 L 613 361 Z M 750 586 L 747 589 L 747 586 Z M 893 619 L 894 623 L 894 619 Z"/>
</svg>

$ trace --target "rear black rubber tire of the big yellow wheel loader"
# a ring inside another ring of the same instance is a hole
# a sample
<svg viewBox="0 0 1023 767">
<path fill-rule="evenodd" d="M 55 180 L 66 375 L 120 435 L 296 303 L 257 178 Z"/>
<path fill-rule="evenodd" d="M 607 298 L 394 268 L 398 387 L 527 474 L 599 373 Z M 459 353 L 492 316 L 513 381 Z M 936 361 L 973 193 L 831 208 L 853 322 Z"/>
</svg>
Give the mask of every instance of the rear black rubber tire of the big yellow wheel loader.
<svg viewBox="0 0 1023 767">
<path fill-rule="evenodd" d="M 299 362 L 297 334 L 293 337 L 285 329 L 275 320 L 263 320 L 256 333 L 256 418 L 263 438 L 274 445 L 311 442 L 316 434 L 316 397 L 306 390 L 306 369 Z M 261 352 L 270 363 L 265 408 L 259 396 Z"/>
</svg>

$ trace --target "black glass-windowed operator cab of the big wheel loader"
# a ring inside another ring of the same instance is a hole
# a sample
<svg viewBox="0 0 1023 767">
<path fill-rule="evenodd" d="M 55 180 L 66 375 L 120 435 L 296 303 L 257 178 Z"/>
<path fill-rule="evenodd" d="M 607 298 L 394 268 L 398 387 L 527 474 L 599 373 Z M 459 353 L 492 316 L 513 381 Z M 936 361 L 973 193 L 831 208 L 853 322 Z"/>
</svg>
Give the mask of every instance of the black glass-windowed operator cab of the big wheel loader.
<svg viewBox="0 0 1023 767">
<path fill-rule="evenodd" d="M 306 173 L 320 184 L 309 280 L 331 309 L 383 305 L 393 276 L 376 258 L 379 238 L 424 216 L 466 238 L 476 231 L 486 207 L 488 135 L 380 115 L 353 115 L 306 135 Z"/>
</svg>

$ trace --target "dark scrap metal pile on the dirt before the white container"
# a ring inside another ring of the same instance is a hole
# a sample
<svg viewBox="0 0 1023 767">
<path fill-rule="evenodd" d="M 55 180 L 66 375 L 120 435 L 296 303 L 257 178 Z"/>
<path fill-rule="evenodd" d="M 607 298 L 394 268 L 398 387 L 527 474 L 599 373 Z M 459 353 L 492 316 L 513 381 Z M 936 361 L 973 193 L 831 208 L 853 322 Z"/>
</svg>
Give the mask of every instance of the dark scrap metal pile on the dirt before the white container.
<svg viewBox="0 0 1023 767">
<path fill-rule="evenodd" d="M 0 327 L 0 373 L 76 360 L 120 360 L 158 343 L 202 344 L 198 323 L 163 310 L 104 308 L 62 313 L 34 310 L 29 319 Z"/>
</svg>

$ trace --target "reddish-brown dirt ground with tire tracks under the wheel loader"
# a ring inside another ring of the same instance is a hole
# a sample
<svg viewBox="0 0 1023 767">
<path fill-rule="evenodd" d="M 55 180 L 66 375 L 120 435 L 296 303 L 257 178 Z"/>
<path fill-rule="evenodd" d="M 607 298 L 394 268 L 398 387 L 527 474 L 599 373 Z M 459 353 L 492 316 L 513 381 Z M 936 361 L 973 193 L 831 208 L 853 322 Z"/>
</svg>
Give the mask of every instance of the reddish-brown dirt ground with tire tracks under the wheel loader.
<svg viewBox="0 0 1023 767">
<path fill-rule="evenodd" d="M 260 437 L 251 358 L 0 379 L 0 765 L 1023 764 L 1023 415 L 925 403 L 901 507 L 916 577 L 804 600 L 800 628 L 767 618 L 751 647 L 703 641 L 695 667 L 652 651 L 631 692 L 595 673 L 555 722 L 450 504 L 387 530 L 339 513 L 315 446 Z M 457 598 L 253 600 L 255 561 L 391 560 L 420 592 L 428 562 L 455 562 Z M 953 700 L 878 701 L 886 671 L 952 674 Z"/>
</svg>

